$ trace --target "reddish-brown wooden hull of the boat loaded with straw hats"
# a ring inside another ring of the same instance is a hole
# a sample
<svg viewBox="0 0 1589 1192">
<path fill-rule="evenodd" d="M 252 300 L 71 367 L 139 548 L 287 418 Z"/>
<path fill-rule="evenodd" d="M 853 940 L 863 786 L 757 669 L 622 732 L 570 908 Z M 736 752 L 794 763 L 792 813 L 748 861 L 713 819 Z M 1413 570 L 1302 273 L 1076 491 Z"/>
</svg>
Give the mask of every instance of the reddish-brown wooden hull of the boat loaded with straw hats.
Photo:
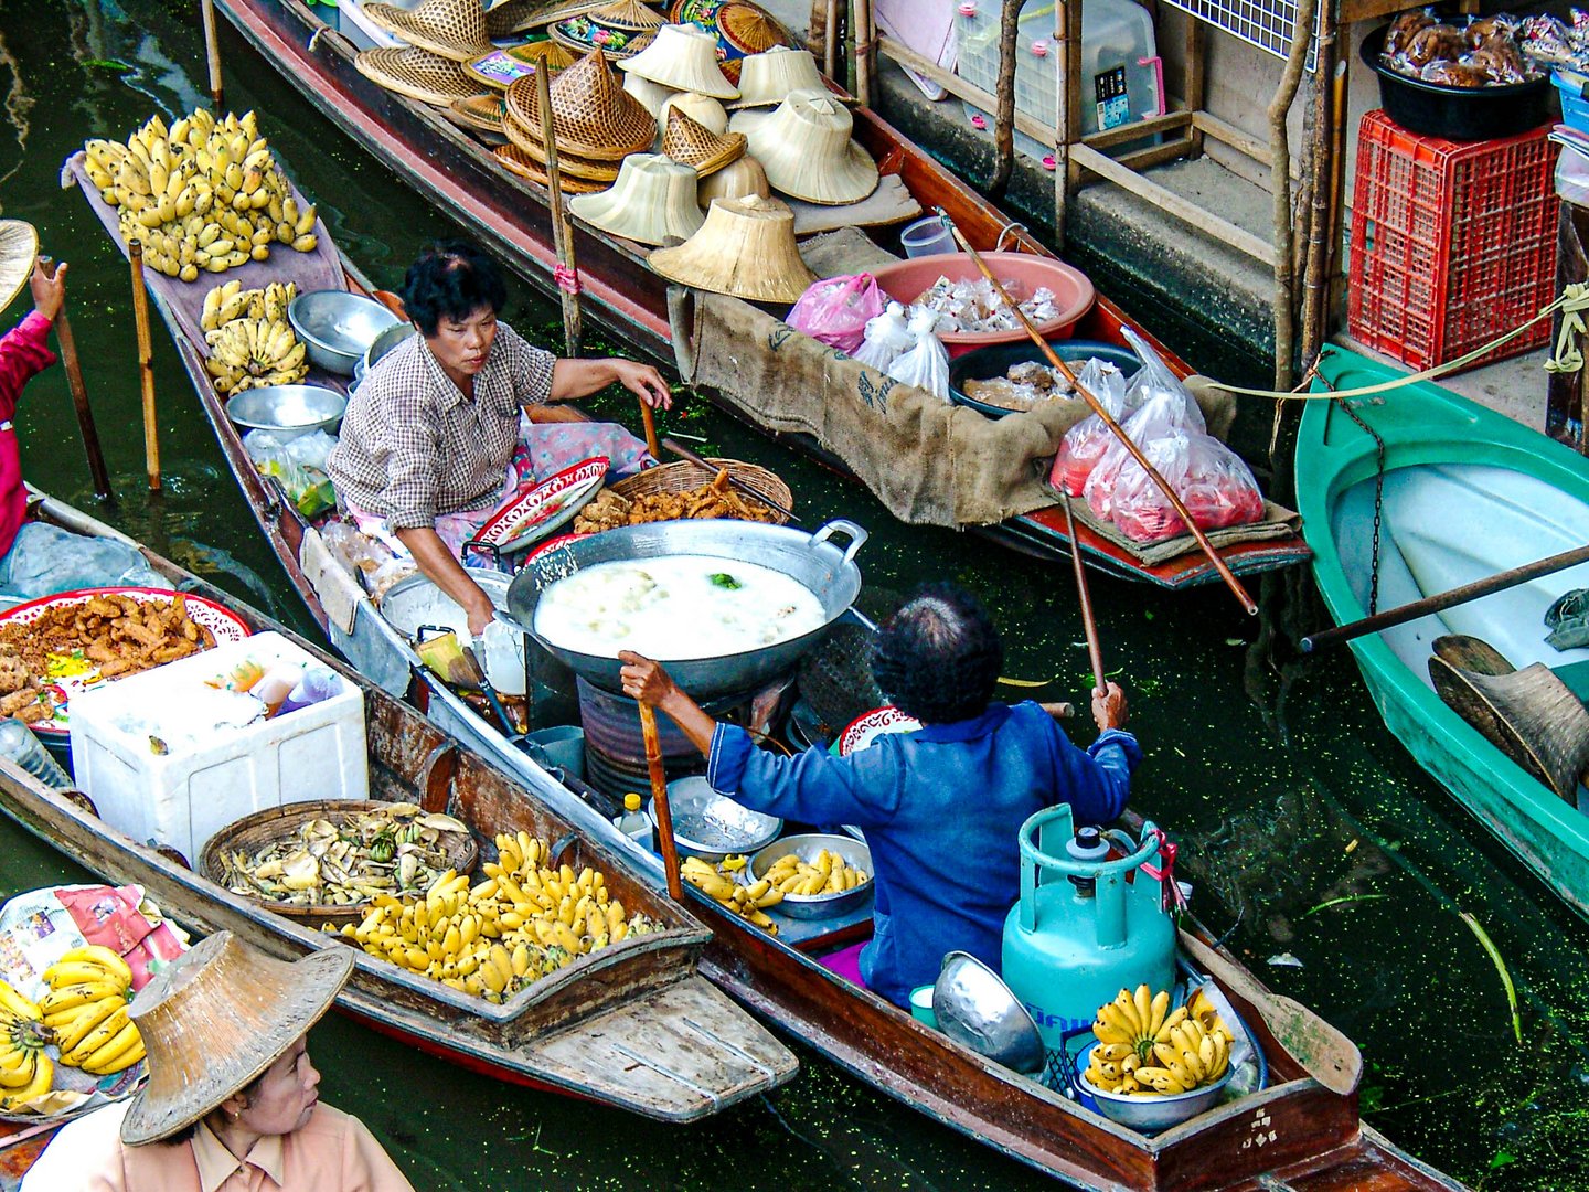
<svg viewBox="0 0 1589 1192">
<path fill-rule="evenodd" d="M 507 173 L 478 140 L 439 110 L 385 91 L 361 75 L 353 64 L 354 45 L 321 16 L 326 8 L 303 0 L 219 0 L 218 6 L 265 60 L 354 141 L 458 219 L 516 273 L 547 292 L 556 292 L 551 281 L 556 253 L 545 188 Z M 942 207 L 972 245 L 1047 254 L 1036 238 L 1007 221 L 877 113 L 855 108 L 855 137 L 887 173 L 901 176 L 923 208 Z M 620 340 L 671 362 L 675 332 L 669 318 L 667 284 L 645 267 L 644 250 L 590 224 L 574 221 L 572 226 L 583 299 L 599 308 Z M 1074 335 L 1123 343 L 1122 323 L 1128 319 L 1120 308 L 1100 296 Z M 756 345 L 745 345 L 745 351 L 753 350 Z M 1162 346 L 1160 351 L 1182 375 L 1190 372 Z M 737 405 L 720 404 L 736 416 L 747 416 Z M 809 435 L 777 437 L 841 472 L 847 470 L 844 459 L 823 451 Z M 1057 558 L 1069 550 L 1065 513 L 1057 505 L 977 529 L 1039 556 Z M 1087 563 L 1127 579 L 1166 588 L 1217 579 L 1208 559 L 1195 550 L 1165 563 L 1144 564 L 1085 526 L 1077 528 L 1077 537 Z M 1306 553 L 1306 545 L 1295 534 L 1222 548 L 1236 572 L 1292 566 Z"/>
</svg>

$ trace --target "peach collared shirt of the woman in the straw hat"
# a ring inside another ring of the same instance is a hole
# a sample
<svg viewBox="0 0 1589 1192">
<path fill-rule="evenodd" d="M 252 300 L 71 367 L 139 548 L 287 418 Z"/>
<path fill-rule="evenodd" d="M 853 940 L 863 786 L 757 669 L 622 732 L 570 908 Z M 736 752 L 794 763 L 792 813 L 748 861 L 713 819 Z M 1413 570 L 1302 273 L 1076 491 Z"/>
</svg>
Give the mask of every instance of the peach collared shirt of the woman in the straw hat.
<svg viewBox="0 0 1589 1192">
<path fill-rule="evenodd" d="M 127 1105 L 64 1125 L 22 1192 L 413 1192 L 364 1122 L 329 1105 L 302 1130 L 261 1138 L 245 1159 L 203 1122 L 189 1143 L 126 1146 Z"/>
</svg>

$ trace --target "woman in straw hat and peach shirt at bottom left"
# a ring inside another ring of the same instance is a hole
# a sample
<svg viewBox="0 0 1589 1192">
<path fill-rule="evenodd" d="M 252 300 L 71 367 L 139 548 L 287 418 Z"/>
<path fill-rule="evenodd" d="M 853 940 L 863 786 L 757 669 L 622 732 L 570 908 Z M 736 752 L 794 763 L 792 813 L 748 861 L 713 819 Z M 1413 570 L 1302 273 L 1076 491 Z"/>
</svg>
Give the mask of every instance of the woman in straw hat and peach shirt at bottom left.
<svg viewBox="0 0 1589 1192">
<path fill-rule="evenodd" d="M 132 1003 L 148 1084 L 62 1127 L 22 1192 L 413 1192 L 316 1090 L 305 1035 L 351 973 L 351 949 L 286 962 L 216 931 Z"/>
</svg>

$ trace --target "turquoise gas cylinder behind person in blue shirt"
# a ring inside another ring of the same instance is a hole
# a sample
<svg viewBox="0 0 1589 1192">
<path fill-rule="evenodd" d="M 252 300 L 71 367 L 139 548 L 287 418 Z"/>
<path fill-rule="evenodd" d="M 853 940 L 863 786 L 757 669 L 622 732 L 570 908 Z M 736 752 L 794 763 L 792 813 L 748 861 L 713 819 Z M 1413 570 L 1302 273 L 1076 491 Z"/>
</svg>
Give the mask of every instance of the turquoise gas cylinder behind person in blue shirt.
<svg viewBox="0 0 1589 1192">
<path fill-rule="evenodd" d="M 1073 838 L 1068 804 L 1020 825 L 1020 901 L 1004 920 L 1004 984 L 1031 1011 L 1049 1051 L 1122 989 L 1146 982 L 1158 992 L 1174 977 L 1176 927 L 1163 887 L 1138 873 L 1162 863 L 1154 825 L 1142 825 L 1141 846 L 1117 860 L 1101 860 L 1093 847 L 1071 850 Z"/>
</svg>

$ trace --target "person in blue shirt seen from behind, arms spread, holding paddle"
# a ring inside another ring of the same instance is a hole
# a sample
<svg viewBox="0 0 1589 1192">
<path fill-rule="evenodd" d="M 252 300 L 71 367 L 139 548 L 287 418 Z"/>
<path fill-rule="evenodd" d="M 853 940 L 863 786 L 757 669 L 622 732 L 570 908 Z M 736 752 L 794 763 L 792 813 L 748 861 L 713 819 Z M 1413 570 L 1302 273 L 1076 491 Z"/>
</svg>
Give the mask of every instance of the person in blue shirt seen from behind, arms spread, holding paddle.
<svg viewBox="0 0 1589 1192">
<path fill-rule="evenodd" d="M 707 755 L 713 790 L 769 815 L 866 831 L 877 887 L 861 976 L 898 1006 L 936 979 L 945 952 L 998 969 L 1004 915 L 1020 890 L 1020 825 L 1061 799 L 1077 825 L 1108 823 L 1142 757 L 1120 728 L 1125 695 L 1114 683 L 1093 691 L 1103 733 L 1087 750 L 1038 704 L 992 702 L 1004 661 L 998 631 L 974 596 L 947 583 L 890 617 L 872 650 L 877 685 L 923 728 L 842 758 L 760 750 L 742 728 L 712 720 L 658 663 L 620 656 L 624 691 L 679 723 Z"/>
</svg>

